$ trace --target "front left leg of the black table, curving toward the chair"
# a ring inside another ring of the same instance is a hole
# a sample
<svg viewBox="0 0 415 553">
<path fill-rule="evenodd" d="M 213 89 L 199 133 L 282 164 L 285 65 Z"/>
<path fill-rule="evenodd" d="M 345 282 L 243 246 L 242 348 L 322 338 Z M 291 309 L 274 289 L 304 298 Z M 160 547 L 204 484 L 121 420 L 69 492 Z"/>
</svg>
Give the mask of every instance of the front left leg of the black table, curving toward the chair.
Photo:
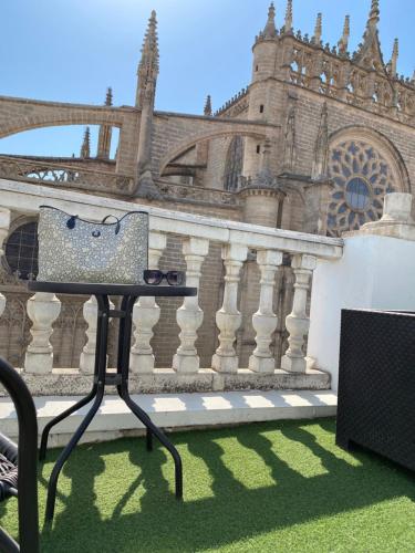
<svg viewBox="0 0 415 553">
<path fill-rule="evenodd" d="M 96 396 L 91 409 L 86 414 L 85 418 L 82 420 L 75 434 L 72 436 L 70 442 L 66 445 L 66 447 L 59 456 L 58 461 L 53 467 L 52 474 L 48 486 L 48 501 L 46 501 L 46 513 L 45 513 L 46 521 L 52 521 L 53 519 L 54 505 L 56 499 L 56 486 L 61 470 L 65 461 L 68 460 L 69 456 L 71 455 L 73 448 L 80 441 L 81 437 L 83 436 L 86 428 L 91 424 L 91 420 L 96 415 L 96 411 L 98 410 L 102 399 L 104 397 L 110 305 L 107 296 L 97 295 L 96 300 L 98 304 L 96 349 L 95 349 L 95 373 L 96 373 L 95 379 L 97 382 L 94 384 L 94 388 L 96 388 Z"/>
</svg>

